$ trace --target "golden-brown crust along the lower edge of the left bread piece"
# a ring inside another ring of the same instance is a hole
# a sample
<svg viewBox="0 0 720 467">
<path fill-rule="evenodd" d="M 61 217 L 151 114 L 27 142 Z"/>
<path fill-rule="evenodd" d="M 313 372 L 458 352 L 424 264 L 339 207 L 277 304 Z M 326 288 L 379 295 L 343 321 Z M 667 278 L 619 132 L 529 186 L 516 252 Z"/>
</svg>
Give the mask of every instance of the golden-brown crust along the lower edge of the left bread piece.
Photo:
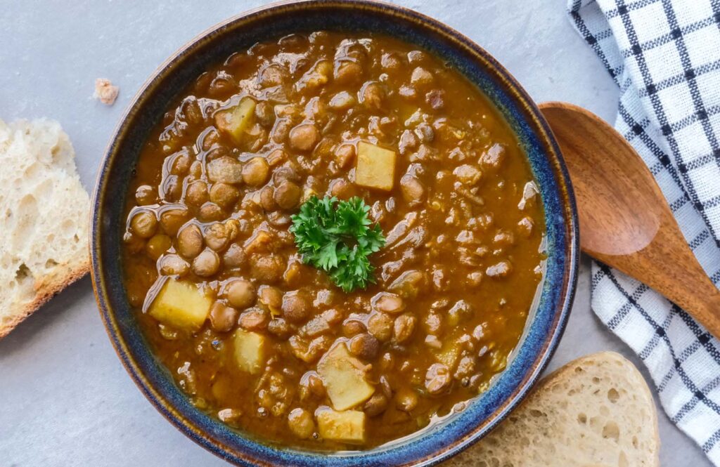
<svg viewBox="0 0 720 467">
<path fill-rule="evenodd" d="M 56 274 L 55 271 L 58 271 Z M 63 272 L 60 275 L 60 271 Z M 0 339 L 5 337 L 17 325 L 24 321 L 31 314 L 36 312 L 48 300 L 53 298 L 55 294 L 65 289 L 73 282 L 86 276 L 90 272 L 90 259 L 77 260 L 66 266 L 56 266 L 53 274 L 44 276 L 35 281 L 35 298 L 27 304 L 19 304 L 18 309 L 11 310 L 9 321 L 0 324 Z"/>
</svg>

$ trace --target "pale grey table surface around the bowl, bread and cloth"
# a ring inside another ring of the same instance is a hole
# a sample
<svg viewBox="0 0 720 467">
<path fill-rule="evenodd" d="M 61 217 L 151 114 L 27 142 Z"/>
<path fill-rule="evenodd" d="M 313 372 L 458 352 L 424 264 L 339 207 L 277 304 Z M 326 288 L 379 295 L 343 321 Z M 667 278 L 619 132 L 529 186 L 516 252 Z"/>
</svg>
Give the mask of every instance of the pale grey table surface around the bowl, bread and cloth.
<svg viewBox="0 0 720 467">
<path fill-rule="evenodd" d="M 70 135 L 87 189 L 125 106 L 156 66 L 253 0 L 9 0 L 0 14 L 0 119 L 49 117 Z M 403 0 L 495 55 L 536 101 L 580 104 L 612 121 L 618 89 L 572 30 L 565 0 Z M 120 97 L 91 99 L 110 78 Z M 590 310 L 583 258 L 575 307 L 549 370 L 598 350 L 642 363 Z M 657 402 L 657 401 L 656 401 Z M 663 466 L 710 466 L 662 412 Z M 0 341 L 0 466 L 222 466 L 132 384 L 107 339 L 89 278 Z"/>
</svg>

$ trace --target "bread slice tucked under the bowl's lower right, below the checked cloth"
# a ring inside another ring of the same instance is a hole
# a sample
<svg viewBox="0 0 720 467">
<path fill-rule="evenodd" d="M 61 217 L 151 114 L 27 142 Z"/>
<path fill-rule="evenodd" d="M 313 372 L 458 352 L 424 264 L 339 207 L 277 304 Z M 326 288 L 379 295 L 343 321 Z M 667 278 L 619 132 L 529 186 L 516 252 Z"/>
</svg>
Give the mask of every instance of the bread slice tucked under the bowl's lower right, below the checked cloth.
<svg viewBox="0 0 720 467">
<path fill-rule="evenodd" d="M 652 394 L 621 355 L 600 352 L 559 368 L 490 435 L 444 465 L 656 467 Z"/>
</svg>

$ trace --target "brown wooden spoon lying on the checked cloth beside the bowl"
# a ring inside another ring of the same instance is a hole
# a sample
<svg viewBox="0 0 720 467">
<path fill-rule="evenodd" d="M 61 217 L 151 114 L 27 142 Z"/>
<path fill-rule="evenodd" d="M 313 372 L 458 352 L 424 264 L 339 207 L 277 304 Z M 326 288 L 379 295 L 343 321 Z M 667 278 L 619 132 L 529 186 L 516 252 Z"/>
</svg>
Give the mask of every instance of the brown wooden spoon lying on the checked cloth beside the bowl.
<svg viewBox="0 0 720 467">
<path fill-rule="evenodd" d="M 663 294 L 720 338 L 720 291 L 706 276 L 652 174 L 595 114 L 563 102 L 540 109 L 570 172 L 580 247 Z"/>
</svg>

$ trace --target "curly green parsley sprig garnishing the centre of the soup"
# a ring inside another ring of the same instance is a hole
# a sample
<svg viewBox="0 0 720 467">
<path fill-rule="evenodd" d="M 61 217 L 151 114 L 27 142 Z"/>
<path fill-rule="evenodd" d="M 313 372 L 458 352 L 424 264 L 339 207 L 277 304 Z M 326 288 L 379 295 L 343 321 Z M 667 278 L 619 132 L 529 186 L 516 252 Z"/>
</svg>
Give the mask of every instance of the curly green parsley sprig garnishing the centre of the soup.
<svg viewBox="0 0 720 467">
<path fill-rule="evenodd" d="M 369 210 L 357 196 L 348 201 L 312 196 L 292 216 L 290 232 L 302 261 L 326 271 L 345 292 L 375 283 L 368 256 L 385 245 L 385 237 L 379 225 L 370 227 Z"/>
</svg>

